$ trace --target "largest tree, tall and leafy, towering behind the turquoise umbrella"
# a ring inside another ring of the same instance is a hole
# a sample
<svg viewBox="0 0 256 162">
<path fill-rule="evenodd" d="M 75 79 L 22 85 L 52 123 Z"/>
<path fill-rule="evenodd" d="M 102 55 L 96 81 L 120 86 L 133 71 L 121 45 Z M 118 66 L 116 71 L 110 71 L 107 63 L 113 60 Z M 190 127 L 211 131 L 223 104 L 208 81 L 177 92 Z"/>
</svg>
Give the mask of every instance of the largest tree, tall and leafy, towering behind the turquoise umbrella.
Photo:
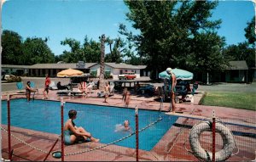
<svg viewBox="0 0 256 162">
<path fill-rule="evenodd" d="M 214 33 L 221 23 L 221 20 L 208 20 L 212 16 L 211 10 L 216 8 L 218 2 L 125 1 L 125 4 L 130 9 L 126 14 L 128 20 L 133 22 L 132 26 L 140 33 L 132 35 L 125 29 L 125 25 L 119 26 L 119 32 L 134 42 L 139 56 L 148 60 L 146 64 L 149 70 L 166 70 L 166 67 L 170 66 L 186 68 L 184 63 L 188 61 L 191 61 L 188 64 L 195 64 L 193 59 L 186 59 L 189 55 L 195 54 L 196 47 L 199 47 L 193 44 L 195 36 Z M 208 43 L 205 47 L 209 47 L 207 50 L 211 52 L 214 47 L 222 47 L 222 42 Z M 222 57 L 212 59 L 218 62 Z M 213 70 L 216 65 L 208 68 Z"/>
</svg>

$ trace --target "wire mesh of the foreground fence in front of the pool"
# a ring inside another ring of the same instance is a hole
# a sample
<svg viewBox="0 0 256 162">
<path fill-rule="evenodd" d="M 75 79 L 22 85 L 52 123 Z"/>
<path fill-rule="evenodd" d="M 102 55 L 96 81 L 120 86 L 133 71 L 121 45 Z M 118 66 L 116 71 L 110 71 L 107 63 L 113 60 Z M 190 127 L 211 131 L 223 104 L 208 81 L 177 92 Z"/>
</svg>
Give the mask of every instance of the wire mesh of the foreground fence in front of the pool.
<svg viewBox="0 0 256 162">
<path fill-rule="evenodd" d="M 13 161 L 61 161 L 61 104 L 54 101 L 12 99 L 10 101 L 10 146 L 7 102 L 2 101 L 2 157 Z M 212 119 L 166 115 L 162 111 L 138 110 L 138 143 L 134 109 L 64 104 L 64 121 L 76 109 L 77 126 L 100 139 L 79 141 L 64 147 L 65 161 L 210 161 L 212 160 Z M 122 130 L 125 120 L 130 131 Z M 194 126 L 194 127 L 193 127 Z M 255 159 L 255 119 L 216 119 L 215 160 Z M 191 133 L 192 132 L 192 133 Z M 47 156 L 49 154 L 49 156 Z"/>
</svg>

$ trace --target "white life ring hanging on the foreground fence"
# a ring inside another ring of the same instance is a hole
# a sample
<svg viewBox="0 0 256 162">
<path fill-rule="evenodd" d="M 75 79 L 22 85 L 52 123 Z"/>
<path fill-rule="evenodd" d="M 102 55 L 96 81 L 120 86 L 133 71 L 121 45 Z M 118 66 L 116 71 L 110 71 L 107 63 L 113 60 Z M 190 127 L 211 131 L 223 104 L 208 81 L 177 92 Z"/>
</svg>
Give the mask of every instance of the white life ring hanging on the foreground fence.
<svg viewBox="0 0 256 162">
<path fill-rule="evenodd" d="M 223 140 L 223 148 L 215 153 L 216 161 L 224 161 L 229 159 L 236 147 L 234 137 L 230 130 L 223 124 L 216 122 L 216 132 L 218 132 Z M 200 135 L 203 131 L 212 131 L 212 121 L 201 122 L 192 127 L 189 133 L 189 143 L 193 154 L 198 159 L 212 160 L 212 152 L 205 150 L 200 144 Z"/>
</svg>

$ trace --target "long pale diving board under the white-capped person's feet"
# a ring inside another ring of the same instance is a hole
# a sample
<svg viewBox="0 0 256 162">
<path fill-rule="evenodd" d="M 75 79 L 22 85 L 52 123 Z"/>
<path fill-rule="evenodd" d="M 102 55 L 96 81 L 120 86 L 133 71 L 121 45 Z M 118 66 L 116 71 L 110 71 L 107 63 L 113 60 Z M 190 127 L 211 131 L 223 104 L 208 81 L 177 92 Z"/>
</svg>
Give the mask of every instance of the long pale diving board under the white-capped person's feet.
<svg viewBox="0 0 256 162">
<path fill-rule="evenodd" d="M 181 118 L 189 118 L 189 119 L 193 119 L 193 120 L 211 120 L 211 117 L 206 117 L 206 116 L 200 116 L 200 115 L 189 115 L 189 114 L 181 114 L 181 113 L 173 113 L 173 112 L 168 112 L 166 113 L 166 115 L 174 115 L 174 116 L 178 116 Z M 236 122 L 238 122 L 236 120 Z M 232 125 L 232 126 L 244 126 L 244 127 L 249 127 L 249 128 L 253 128 L 256 129 L 256 123 L 246 123 L 243 121 L 239 121 L 239 123 L 231 123 L 231 122 L 223 122 L 226 125 Z"/>
</svg>

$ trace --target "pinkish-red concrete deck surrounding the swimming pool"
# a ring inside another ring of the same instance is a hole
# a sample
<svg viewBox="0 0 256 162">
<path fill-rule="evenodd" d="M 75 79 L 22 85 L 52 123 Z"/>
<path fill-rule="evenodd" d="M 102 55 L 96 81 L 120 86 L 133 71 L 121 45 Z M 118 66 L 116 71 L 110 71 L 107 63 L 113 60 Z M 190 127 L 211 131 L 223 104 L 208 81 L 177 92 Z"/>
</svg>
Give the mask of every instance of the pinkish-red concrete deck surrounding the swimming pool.
<svg viewBox="0 0 256 162">
<path fill-rule="evenodd" d="M 42 99 L 43 89 L 39 90 L 39 94 L 35 95 L 35 99 Z M 65 102 L 73 103 L 89 103 L 89 104 L 99 104 L 99 105 L 108 105 L 108 106 L 117 106 L 125 107 L 125 104 L 122 102 L 122 95 L 119 93 L 114 93 L 113 97 L 109 98 L 108 103 L 103 103 L 104 98 L 97 98 L 97 92 L 94 91 L 90 93 L 89 98 L 84 96 L 79 97 L 63 97 Z M 203 92 L 198 92 L 195 94 L 194 103 L 177 103 L 177 111 L 182 111 L 183 114 L 187 115 L 199 115 L 203 117 L 212 117 L 212 109 L 215 110 L 215 114 L 218 118 L 223 121 L 229 121 L 234 123 L 247 123 L 248 125 L 256 125 L 255 111 L 244 110 L 244 109 L 231 109 L 224 107 L 213 107 L 213 106 L 203 106 L 199 105 L 199 101 L 203 95 Z M 3 99 L 6 96 L 3 95 Z M 25 98 L 25 95 L 15 95 L 12 98 Z M 49 100 L 61 100 L 61 97 L 56 95 L 56 91 L 49 92 Z M 135 106 L 139 109 L 160 109 L 160 102 L 158 98 L 148 97 L 148 96 L 137 96 L 131 95 L 131 103 L 129 107 L 131 109 Z M 164 111 L 169 109 L 170 103 L 163 103 Z M 126 108 L 125 108 L 126 109 Z M 180 117 L 177 120 L 177 126 L 172 126 L 161 138 L 160 142 L 151 151 L 139 151 L 139 160 L 145 161 L 191 161 L 198 160 L 195 159 L 193 154 L 189 154 L 185 148 L 189 148 L 189 129 L 182 126 L 194 126 L 200 120 L 193 120 Z M 6 128 L 6 126 L 3 126 Z M 256 134 L 256 130 L 249 127 L 239 127 L 239 126 L 229 126 L 232 131 L 242 131 L 247 133 Z M 58 135 L 44 133 L 40 131 L 32 131 L 21 128 L 12 127 L 12 134 L 15 137 L 19 137 L 26 143 L 30 143 L 32 146 L 36 146 L 42 150 L 48 150 L 51 148 Z M 207 137 L 207 135 L 205 135 Z M 237 146 L 239 147 L 239 153 L 231 156 L 229 160 L 231 161 L 248 161 L 255 159 L 255 150 L 256 150 L 256 138 L 255 137 L 241 137 L 235 136 Z M 42 161 L 46 156 L 45 153 L 38 151 L 34 148 L 28 147 L 22 142 L 16 140 L 14 137 L 12 140 L 12 148 L 14 149 L 13 160 L 32 160 L 32 161 Z M 208 140 L 209 141 L 209 140 Z M 207 138 L 203 139 L 203 142 L 206 142 L 210 145 L 210 142 L 207 141 Z M 79 143 L 71 146 L 65 147 L 65 154 L 77 153 L 84 151 L 90 148 L 97 148 L 102 146 L 102 143 L 95 142 L 86 142 Z M 59 141 L 54 150 L 60 150 L 61 142 Z M 220 146 L 218 146 L 220 147 Z M 2 154 L 4 159 L 8 159 L 8 137 L 7 133 L 2 131 Z M 67 161 L 135 161 L 136 153 L 135 149 L 120 147 L 117 145 L 109 145 L 105 148 L 96 149 L 83 154 L 76 154 L 65 156 Z M 51 155 L 47 161 L 61 161 L 61 159 L 55 159 Z"/>
</svg>

